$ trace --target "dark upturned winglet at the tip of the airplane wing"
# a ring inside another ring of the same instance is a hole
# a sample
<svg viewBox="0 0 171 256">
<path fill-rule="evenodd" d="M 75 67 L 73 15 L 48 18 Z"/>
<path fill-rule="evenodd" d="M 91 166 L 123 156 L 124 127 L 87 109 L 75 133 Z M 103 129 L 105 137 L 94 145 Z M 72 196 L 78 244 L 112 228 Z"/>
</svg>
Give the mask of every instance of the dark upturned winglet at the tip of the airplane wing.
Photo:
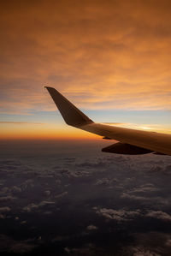
<svg viewBox="0 0 171 256">
<path fill-rule="evenodd" d="M 53 98 L 56 107 L 60 110 L 63 119 L 68 125 L 79 127 L 85 124 L 92 123 L 88 116 L 85 116 L 83 112 L 77 109 L 74 104 L 63 97 L 60 92 L 57 92 L 55 88 L 44 86 L 48 92 L 50 92 L 51 98 Z"/>
</svg>

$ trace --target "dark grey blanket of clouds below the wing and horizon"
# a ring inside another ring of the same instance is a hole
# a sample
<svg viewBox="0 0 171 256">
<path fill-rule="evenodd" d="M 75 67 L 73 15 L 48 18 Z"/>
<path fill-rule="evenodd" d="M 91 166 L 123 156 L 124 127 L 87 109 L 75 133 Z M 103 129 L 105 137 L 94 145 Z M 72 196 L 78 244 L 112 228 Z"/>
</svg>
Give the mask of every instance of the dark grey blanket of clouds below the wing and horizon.
<svg viewBox="0 0 171 256">
<path fill-rule="evenodd" d="M 71 146 L 66 158 L 58 147 L 46 141 L 33 155 L 29 142 L 23 155 L 16 144 L 10 156 L 2 150 L 1 234 L 13 240 L 6 237 L 9 247 L 3 247 L 0 237 L 2 252 L 171 254 L 170 179 L 163 172 L 170 158 L 102 155 L 89 146 L 84 154 Z"/>
</svg>

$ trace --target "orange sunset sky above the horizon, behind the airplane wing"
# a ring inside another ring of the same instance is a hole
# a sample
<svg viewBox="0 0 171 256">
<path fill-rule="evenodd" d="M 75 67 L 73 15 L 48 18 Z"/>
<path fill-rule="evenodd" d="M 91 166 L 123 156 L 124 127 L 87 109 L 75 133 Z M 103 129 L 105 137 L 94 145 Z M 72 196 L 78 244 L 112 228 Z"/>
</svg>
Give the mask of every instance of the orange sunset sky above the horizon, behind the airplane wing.
<svg viewBox="0 0 171 256">
<path fill-rule="evenodd" d="M 97 139 L 68 128 L 44 86 L 95 122 L 171 131 L 168 0 L 0 2 L 0 139 Z"/>
</svg>

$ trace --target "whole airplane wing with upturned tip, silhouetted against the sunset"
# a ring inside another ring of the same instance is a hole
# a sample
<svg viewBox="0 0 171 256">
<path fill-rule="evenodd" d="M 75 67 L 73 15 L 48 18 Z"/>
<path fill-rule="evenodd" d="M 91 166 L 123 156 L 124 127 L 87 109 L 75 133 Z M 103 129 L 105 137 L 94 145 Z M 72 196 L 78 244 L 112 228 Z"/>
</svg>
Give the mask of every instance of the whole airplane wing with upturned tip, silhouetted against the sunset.
<svg viewBox="0 0 171 256">
<path fill-rule="evenodd" d="M 80 128 L 92 134 L 103 136 L 103 139 L 118 140 L 111 146 L 102 149 L 103 152 L 138 155 L 153 152 L 161 155 L 171 155 L 171 134 L 160 134 L 140 131 L 130 128 L 120 128 L 92 122 L 74 104 L 63 97 L 55 88 L 45 86 L 50 92 L 58 110 L 68 125 Z"/>
</svg>

